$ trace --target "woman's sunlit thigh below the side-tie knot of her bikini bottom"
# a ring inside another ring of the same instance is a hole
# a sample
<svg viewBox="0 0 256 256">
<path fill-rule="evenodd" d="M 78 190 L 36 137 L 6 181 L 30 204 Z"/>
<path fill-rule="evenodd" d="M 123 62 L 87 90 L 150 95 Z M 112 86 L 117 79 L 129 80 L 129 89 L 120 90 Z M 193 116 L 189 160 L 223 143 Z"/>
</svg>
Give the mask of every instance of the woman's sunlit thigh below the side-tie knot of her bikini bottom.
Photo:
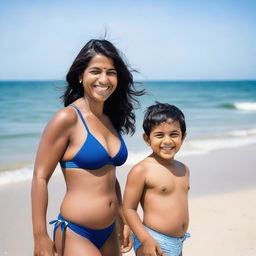
<svg viewBox="0 0 256 256">
<path fill-rule="evenodd" d="M 55 247 L 58 255 L 62 255 L 62 231 L 56 230 Z M 102 256 L 98 248 L 87 238 L 74 233 L 69 228 L 65 230 L 64 256 Z"/>
</svg>

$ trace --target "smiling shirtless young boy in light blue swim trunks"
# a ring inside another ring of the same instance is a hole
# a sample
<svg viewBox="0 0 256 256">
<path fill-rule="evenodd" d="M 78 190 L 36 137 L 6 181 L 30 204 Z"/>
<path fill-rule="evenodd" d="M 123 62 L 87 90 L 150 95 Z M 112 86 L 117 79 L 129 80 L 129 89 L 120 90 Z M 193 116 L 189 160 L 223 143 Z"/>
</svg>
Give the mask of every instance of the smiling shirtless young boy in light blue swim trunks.
<svg viewBox="0 0 256 256">
<path fill-rule="evenodd" d="M 185 118 L 177 107 L 156 102 L 145 113 L 143 129 L 153 152 L 131 169 L 123 202 L 134 250 L 137 256 L 180 256 L 189 237 L 189 169 L 174 156 L 186 137 Z"/>
</svg>

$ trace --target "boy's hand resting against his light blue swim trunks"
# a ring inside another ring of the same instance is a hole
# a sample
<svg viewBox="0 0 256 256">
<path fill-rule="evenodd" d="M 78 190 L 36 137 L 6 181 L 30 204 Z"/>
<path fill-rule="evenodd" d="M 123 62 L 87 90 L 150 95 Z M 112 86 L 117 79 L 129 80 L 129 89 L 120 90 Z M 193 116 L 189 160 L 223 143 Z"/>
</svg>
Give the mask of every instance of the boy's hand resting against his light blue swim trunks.
<svg viewBox="0 0 256 256">
<path fill-rule="evenodd" d="M 138 249 L 138 256 L 166 256 L 159 244 L 149 236 Z"/>
</svg>

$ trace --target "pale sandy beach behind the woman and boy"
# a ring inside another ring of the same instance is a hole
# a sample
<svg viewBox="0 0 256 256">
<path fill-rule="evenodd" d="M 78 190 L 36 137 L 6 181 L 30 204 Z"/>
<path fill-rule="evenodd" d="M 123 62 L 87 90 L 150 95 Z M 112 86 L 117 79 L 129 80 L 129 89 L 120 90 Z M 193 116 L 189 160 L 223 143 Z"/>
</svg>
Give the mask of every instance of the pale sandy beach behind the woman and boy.
<svg viewBox="0 0 256 256">
<path fill-rule="evenodd" d="M 255 152 L 251 146 L 180 157 L 191 173 L 191 238 L 183 255 L 256 255 Z M 128 171 L 127 166 L 118 169 L 122 188 Z M 33 254 L 30 184 L 0 187 L 0 256 Z M 56 174 L 49 183 L 48 220 L 56 218 L 64 193 L 63 178 Z"/>
</svg>

